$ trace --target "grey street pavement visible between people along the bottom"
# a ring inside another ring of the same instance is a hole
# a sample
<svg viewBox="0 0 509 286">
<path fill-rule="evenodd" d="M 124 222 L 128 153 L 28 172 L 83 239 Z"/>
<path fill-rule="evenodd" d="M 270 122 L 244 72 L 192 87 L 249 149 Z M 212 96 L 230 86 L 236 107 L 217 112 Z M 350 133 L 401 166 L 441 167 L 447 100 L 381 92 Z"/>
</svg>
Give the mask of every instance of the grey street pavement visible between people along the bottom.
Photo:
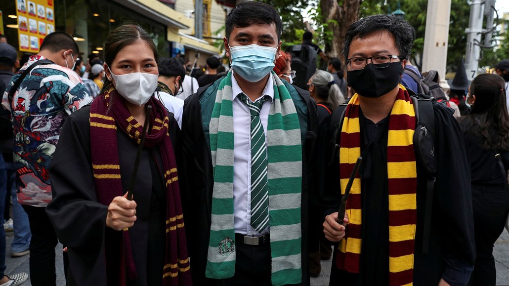
<svg viewBox="0 0 509 286">
<path fill-rule="evenodd" d="M 29 273 L 29 255 L 22 256 L 20 258 L 11 258 L 11 241 L 12 233 L 7 233 L 7 255 L 6 274 L 14 274 L 19 272 Z M 62 245 L 59 244 L 55 248 L 56 252 L 56 285 L 65 285 L 64 276 L 64 263 L 62 259 Z M 497 267 L 497 286 L 509 286 L 509 233 L 503 231 L 502 235 L 498 238 L 495 243 L 495 249 L 493 250 L 495 256 L 495 265 Z M 322 261 L 322 272 L 317 278 L 311 278 L 311 285 L 313 286 L 326 286 L 329 285 L 330 266 L 332 260 Z M 32 285 L 30 278 L 23 286 Z"/>
</svg>

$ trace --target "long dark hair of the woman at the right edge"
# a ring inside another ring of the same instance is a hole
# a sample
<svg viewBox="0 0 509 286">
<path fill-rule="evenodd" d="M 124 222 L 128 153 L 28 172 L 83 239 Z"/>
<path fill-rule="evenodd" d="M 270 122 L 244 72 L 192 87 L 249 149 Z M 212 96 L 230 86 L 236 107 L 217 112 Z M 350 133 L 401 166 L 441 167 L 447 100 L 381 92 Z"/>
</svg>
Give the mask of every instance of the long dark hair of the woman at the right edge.
<svg viewBox="0 0 509 286">
<path fill-rule="evenodd" d="M 479 74 L 470 84 L 475 102 L 470 115 L 461 120 L 469 120 L 471 132 L 483 139 L 484 149 L 509 150 L 509 112 L 504 84 L 501 76 L 491 73 Z"/>
</svg>

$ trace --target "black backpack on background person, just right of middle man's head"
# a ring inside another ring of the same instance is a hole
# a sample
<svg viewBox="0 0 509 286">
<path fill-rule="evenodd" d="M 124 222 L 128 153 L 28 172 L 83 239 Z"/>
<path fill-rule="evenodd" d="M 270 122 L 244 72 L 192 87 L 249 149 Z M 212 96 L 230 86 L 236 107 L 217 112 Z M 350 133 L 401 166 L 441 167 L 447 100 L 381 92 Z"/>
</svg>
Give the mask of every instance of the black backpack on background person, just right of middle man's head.
<svg viewBox="0 0 509 286">
<path fill-rule="evenodd" d="M 317 69 L 317 52 L 312 46 L 293 45 L 287 49 L 292 56 L 293 84 L 307 91 L 307 81 Z"/>
</svg>

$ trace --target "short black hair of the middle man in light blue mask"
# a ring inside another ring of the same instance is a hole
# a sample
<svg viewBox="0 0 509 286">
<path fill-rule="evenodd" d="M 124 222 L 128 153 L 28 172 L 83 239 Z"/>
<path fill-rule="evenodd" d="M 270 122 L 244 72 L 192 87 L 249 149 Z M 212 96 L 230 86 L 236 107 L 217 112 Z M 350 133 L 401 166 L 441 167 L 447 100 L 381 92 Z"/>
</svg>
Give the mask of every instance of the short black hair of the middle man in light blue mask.
<svg viewBox="0 0 509 286">
<path fill-rule="evenodd" d="M 283 25 L 281 17 L 274 7 L 255 1 L 241 2 L 226 17 L 226 38 L 230 40 L 234 27 L 247 27 L 252 24 L 274 24 L 276 26 L 277 41 L 281 38 Z"/>
</svg>

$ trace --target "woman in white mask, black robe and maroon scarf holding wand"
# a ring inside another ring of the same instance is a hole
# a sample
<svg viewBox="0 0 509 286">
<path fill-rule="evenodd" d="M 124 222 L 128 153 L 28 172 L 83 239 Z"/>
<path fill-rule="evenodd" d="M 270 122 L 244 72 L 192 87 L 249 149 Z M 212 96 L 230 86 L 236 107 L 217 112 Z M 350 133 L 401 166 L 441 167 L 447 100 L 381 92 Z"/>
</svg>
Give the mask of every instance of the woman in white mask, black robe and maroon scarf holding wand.
<svg viewBox="0 0 509 286">
<path fill-rule="evenodd" d="M 179 128 L 154 97 L 157 61 L 142 27 L 116 28 L 104 45 L 101 94 L 62 128 L 47 213 L 68 247 L 67 285 L 191 284 L 174 153 Z"/>
</svg>

